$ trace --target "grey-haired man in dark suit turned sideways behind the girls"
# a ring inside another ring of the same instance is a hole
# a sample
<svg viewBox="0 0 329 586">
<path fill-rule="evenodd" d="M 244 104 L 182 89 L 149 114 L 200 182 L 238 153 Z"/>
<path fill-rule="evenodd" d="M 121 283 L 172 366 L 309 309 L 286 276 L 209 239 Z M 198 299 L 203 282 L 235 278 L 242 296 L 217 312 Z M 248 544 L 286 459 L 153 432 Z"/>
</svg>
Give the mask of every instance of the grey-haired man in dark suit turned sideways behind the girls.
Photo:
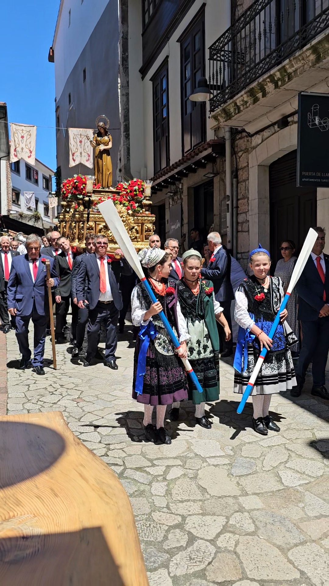
<svg viewBox="0 0 329 586">
<path fill-rule="evenodd" d="M 232 332 L 231 301 L 234 299 L 234 293 L 231 285 L 231 256 L 222 247 L 222 239 L 218 232 L 211 232 L 207 239 L 213 254 L 207 268 L 201 268 L 201 277 L 213 281 L 215 299 L 220 302 Z M 224 329 L 218 323 L 217 328 L 220 335 L 221 358 L 227 358 L 233 353 L 233 340 L 231 337 L 228 342 L 225 342 Z"/>
</svg>

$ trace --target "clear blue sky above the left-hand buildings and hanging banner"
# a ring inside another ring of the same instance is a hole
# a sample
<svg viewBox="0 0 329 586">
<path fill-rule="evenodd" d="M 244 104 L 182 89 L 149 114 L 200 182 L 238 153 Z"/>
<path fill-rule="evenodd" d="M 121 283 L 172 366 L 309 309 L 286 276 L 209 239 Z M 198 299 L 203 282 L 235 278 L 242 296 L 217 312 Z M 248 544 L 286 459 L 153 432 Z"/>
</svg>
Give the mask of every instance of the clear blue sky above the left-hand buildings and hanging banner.
<svg viewBox="0 0 329 586">
<path fill-rule="evenodd" d="M 2 2 L 0 101 L 9 122 L 55 125 L 54 64 L 48 62 L 60 0 Z M 36 157 L 56 169 L 54 128 L 37 128 Z"/>
</svg>

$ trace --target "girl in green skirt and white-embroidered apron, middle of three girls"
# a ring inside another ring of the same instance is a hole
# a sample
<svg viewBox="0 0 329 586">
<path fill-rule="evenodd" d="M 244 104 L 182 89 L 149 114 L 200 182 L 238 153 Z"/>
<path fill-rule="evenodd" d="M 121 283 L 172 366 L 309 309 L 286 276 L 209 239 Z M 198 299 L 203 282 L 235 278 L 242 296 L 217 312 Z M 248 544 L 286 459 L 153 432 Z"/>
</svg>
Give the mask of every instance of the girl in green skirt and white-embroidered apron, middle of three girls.
<svg viewBox="0 0 329 586">
<path fill-rule="evenodd" d="M 220 342 L 216 319 L 224 328 L 226 340 L 231 338 L 222 308 L 214 297 L 211 281 L 200 278 L 201 254 L 188 250 L 183 254 L 184 277 L 177 283 L 181 312 L 187 322 L 190 335 L 187 340 L 187 357 L 203 388 L 199 393 L 189 380 L 189 398 L 196 406 L 196 421 L 205 429 L 211 423 L 204 414 L 205 401 L 218 401 L 220 381 Z M 179 418 L 179 403 L 173 403 L 169 411 L 172 421 Z"/>
</svg>

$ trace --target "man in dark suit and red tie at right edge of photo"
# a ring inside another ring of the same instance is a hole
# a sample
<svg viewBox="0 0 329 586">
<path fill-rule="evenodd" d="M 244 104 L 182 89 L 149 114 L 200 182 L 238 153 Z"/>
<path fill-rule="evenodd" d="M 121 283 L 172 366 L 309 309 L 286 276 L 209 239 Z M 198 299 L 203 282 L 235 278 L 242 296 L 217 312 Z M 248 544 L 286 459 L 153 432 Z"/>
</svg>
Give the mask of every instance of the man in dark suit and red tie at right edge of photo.
<svg viewBox="0 0 329 586">
<path fill-rule="evenodd" d="M 296 366 L 297 386 L 290 391 L 299 397 L 306 370 L 312 360 L 313 387 L 311 394 L 329 399 L 325 388 L 325 365 L 329 351 L 329 256 L 323 254 L 325 230 L 320 226 L 317 241 L 297 282 L 299 295 L 298 319 L 301 323 L 301 350 Z"/>
</svg>

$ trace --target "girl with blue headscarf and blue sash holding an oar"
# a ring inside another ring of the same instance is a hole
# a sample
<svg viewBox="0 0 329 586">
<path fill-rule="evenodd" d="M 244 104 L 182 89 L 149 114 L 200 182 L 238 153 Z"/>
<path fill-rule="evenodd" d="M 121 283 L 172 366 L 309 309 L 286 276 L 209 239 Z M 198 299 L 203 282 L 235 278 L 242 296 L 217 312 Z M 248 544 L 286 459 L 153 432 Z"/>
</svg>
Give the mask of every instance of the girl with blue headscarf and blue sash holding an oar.
<svg viewBox="0 0 329 586">
<path fill-rule="evenodd" d="M 273 393 L 291 389 L 296 384 L 290 346 L 296 336 L 286 323 L 287 310 L 280 313 L 280 323 L 273 339 L 268 333 L 284 297 L 280 277 L 270 277 L 270 254 L 259 244 L 249 254 L 252 277 L 246 278 L 235 293 L 235 321 L 239 333 L 234 357 L 234 392 L 244 393 L 263 346 L 268 353 L 252 389 L 252 424 L 259 434 L 280 431 L 269 415 Z"/>
</svg>

